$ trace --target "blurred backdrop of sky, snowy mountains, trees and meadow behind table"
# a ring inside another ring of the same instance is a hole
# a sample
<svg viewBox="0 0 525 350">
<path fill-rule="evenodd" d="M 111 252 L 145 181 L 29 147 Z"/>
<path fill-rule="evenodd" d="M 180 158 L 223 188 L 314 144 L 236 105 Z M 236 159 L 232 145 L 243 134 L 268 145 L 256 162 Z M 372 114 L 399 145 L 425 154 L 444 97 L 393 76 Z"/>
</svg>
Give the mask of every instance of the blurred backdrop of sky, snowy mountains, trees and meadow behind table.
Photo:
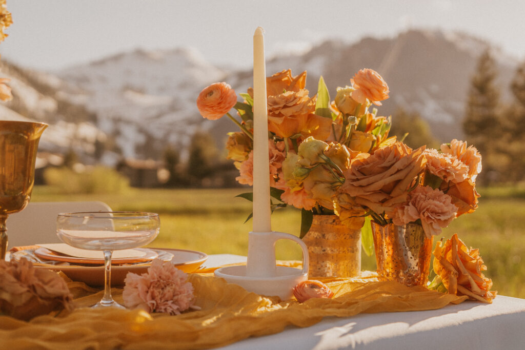
<svg viewBox="0 0 525 350">
<path fill-rule="evenodd" d="M 251 86 L 262 26 L 267 75 L 307 70 L 311 95 L 322 75 L 333 98 L 372 68 L 390 87 L 380 115 L 392 115 L 391 135 L 409 133 L 413 147 L 476 145 L 479 209 L 444 237 L 479 247 L 495 289 L 525 297 L 524 2 L 7 0 L 7 9 L 0 78 L 14 99 L 0 119 L 50 125 L 31 200 L 157 211 L 157 244 L 246 253 L 250 204 L 234 196 L 247 189 L 224 147 L 236 127 L 203 119 L 195 100 L 216 81 Z M 285 209 L 272 224 L 297 234 L 299 217 Z"/>
</svg>

